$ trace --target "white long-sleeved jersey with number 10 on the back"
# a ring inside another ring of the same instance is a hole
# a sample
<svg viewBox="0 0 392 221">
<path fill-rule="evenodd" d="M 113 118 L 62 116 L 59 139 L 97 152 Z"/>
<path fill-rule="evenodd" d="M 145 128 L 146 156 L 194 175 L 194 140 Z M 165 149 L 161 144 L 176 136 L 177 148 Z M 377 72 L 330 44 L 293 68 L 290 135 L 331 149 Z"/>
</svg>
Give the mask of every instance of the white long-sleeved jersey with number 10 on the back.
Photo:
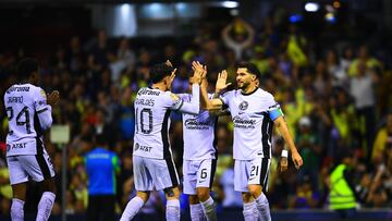
<svg viewBox="0 0 392 221">
<path fill-rule="evenodd" d="M 193 85 L 196 95 L 191 102 L 184 102 L 171 91 L 144 87 L 137 93 L 135 107 L 135 156 L 169 159 L 171 148 L 169 142 L 170 112 L 199 112 L 199 86 Z"/>
</svg>

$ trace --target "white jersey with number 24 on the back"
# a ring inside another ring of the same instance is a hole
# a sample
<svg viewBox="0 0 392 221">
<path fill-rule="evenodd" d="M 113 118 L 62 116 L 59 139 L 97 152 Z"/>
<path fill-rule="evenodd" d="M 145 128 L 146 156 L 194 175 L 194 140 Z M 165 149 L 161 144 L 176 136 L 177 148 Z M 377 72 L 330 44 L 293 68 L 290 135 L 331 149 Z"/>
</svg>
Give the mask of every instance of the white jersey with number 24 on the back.
<svg viewBox="0 0 392 221">
<path fill-rule="evenodd" d="M 4 106 L 9 120 L 7 156 L 42 154 L 44 130 L 52 123 L 44 89 L 32 84 L 13 85 L 5 91 Z"/>
</svg>

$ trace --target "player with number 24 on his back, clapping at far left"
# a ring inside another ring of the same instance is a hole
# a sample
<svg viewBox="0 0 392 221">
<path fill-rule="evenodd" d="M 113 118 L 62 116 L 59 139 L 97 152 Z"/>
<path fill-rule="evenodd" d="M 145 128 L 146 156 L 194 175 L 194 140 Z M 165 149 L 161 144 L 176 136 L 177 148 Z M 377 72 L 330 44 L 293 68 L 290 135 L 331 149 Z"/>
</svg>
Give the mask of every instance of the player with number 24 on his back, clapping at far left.
<svg viewBox="0 0 392 221">
<path fill-rule="evenodd" d="M 24 59 L 19 63 L 19 84 L 4 95 L 9 120 L 7 135 L 7 163 L 13 192 L 12 221 L 23 221 L 26 187 L 29 177 L 41 186 L 44 194 L 38 204 L 37 221 L 48 220 L 56 198 L 54 169 L 44 147 L 44 130 L 51 126 L 51 107 L 59 100 L 53 91 L 47 98 L 38 84 L 38 62 Z"/>
</svg>

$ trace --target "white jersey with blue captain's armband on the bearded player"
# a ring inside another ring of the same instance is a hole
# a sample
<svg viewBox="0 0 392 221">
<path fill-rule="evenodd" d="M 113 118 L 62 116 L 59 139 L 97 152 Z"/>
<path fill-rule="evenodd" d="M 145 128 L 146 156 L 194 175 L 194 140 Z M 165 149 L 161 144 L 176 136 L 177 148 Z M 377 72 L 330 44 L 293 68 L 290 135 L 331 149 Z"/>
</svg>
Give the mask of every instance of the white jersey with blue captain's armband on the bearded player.
<svg viewBox="0 0 392 221">
<path fill-rule="evenodd" d="M 283 115 L 273 96 L 260 88 L 246 95 L 238 89 L 223 94 L 221 100 L 234 123 L 234 159 L 271 158 L 273 121 Z"/>
</svg>

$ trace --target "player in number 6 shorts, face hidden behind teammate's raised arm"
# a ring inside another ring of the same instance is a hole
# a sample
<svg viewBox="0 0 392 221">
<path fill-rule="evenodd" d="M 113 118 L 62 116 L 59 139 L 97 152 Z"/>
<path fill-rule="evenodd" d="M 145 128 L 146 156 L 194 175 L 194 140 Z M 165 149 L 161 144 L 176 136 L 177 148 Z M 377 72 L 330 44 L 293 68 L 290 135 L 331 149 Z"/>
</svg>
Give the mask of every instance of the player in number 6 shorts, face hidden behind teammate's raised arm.
<svg viewBox="0 0 392 221">
<path fill-rule="evenodd" d="M 206 74 L 205 67 L 193 62 L 196 72 Z M 194 78 L 189 78 L 192 84 Z M 192 88 L 191 88 L 192 90 Z M 201 90 L 207 93 L 207 81 L 201 82 Z M 193 98 L 189 94 L 181 94 L 179 97 L 185 102 Z M 209 95 L 212 98 L 212 95 Z M 217 168 L 217 147 L 216 147 L 216 123 L 217 115 L 204 110 L 198 114 L 183 113 L 183 135 L 184 135 L 184 194 L 189 195 L 191 219 L 201 221 L 216 221 L 217 213 L 213 199 L 210 196 L 213 175 Z"/>
</svg>

